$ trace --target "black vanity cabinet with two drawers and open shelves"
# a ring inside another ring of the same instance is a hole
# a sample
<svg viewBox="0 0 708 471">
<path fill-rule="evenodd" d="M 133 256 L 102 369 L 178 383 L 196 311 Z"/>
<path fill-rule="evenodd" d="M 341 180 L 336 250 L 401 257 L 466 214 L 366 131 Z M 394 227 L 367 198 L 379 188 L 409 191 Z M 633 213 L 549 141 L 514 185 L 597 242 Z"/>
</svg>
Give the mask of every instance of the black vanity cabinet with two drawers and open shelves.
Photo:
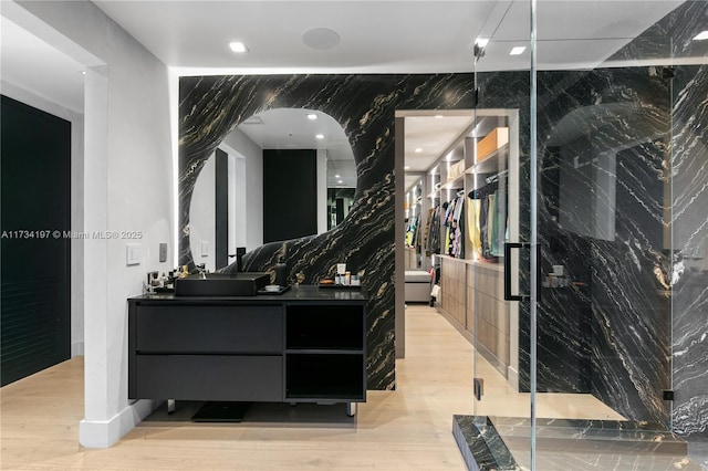
<svg viewBox="0 0 708 471">
<path fill-rule="evenodd" d="M 366 400 L 366 296 L 128 300 L 128 397 L 264 402 Z"/>
</svg>

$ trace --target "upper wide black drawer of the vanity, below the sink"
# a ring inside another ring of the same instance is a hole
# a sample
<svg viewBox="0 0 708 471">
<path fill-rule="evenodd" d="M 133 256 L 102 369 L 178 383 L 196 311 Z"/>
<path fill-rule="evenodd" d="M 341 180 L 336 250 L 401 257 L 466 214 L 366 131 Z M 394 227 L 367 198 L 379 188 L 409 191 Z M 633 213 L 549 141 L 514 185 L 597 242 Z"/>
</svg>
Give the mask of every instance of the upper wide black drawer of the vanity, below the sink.
<svg viewBox="0 0 708 471">
<path fill-rule="evenodd" d="M 137 306 L 138 353 L 281 354 L 281 306 Z"/>
</svg>

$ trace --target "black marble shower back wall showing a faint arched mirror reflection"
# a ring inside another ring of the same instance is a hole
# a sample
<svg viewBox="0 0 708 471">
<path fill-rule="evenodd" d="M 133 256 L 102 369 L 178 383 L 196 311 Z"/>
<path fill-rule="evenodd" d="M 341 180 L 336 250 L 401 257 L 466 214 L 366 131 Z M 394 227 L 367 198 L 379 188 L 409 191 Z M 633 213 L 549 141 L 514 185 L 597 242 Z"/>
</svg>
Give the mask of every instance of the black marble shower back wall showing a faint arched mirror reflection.
<svg viewBox="0 0 708 471">
<path fill-rule="evenodd" d="M 628 419 L 666 426 L 668 91 L 644 67 L 539 73 L 539 275 L 561 264 L 573 284 L 540 287 L 538 388 L 592 393 Z M 528 368 L 521 352 L 527 390 Z"/>
</svg>

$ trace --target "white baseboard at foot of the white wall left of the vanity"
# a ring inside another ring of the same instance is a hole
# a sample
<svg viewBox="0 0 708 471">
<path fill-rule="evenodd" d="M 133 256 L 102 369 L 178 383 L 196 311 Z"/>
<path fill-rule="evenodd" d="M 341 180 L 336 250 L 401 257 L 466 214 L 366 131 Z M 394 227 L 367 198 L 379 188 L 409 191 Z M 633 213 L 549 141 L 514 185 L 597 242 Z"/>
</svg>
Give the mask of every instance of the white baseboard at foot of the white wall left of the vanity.
<svg viewBox="0 0 708 471">
<path fill-rule="evenodd" d="M 110 448 L 140 423 L 155 409 L 150 399 L 138 400 L 113 416 L 110 420 L 79 422 L 79 442 L 86 448 Z"/>
</svg>

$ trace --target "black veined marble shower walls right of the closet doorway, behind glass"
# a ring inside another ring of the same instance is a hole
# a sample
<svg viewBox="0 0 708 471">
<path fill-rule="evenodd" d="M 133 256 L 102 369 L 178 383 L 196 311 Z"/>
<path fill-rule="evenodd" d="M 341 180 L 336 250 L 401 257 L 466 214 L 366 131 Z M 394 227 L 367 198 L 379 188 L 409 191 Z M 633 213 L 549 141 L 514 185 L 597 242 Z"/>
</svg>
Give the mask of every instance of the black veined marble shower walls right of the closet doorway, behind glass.
<svg viewBox="0 0 708 471">
<path fill-rule="evenodd" d="M 705 69 L 539 73 L 541 272 L 563 264 L 576 283 L 541 289 L 539 390 L 592 393 L 684 433 L 705 433 L 708 414 Z M 520 108 L 528 195 L 528 73 L 481 75 L 482 107 Z M 520 207 L 528 240 L 523 197 Z M 528 304 L 520 317 L 528 390 Z M 673 409 L 662 399 L 671 388 Z"/>
</svg>

